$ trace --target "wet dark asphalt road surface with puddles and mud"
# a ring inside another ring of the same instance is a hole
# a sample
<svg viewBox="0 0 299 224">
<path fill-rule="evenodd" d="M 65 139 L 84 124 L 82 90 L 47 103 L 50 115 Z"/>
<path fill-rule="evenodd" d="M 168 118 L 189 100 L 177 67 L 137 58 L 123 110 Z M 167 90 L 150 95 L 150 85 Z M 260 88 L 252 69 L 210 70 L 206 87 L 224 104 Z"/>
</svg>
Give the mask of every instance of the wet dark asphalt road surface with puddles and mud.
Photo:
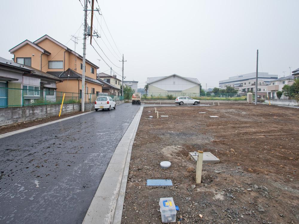
<svg viewBox="0 0 299 224">
<path fill-rule="evenodd" d="M 123 103 L 0 139 L 0 223 L 82 223 L 139 108 Z"/>
</svg>

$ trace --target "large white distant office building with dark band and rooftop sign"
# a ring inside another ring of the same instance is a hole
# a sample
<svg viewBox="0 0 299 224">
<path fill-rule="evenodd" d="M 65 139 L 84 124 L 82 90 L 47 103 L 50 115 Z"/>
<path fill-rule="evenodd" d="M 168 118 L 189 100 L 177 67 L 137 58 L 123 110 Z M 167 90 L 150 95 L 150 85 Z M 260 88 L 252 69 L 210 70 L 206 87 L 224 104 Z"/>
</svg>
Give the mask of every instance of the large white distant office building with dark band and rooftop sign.
<svg viewBox="0 0 299 224">
<path fill-rule="evenodd" d="M 270 75 L 268 72 L 259 72 L 257 74 L 257 97 L 266 98 L 267 96 L 267 85 L 272 80 L 278 78 L 278 75 Z M 238 90 L 240 95 L 246 95 L 247 93 L 255 93 L 255 81 L 256 73 L 248 73 L 244 75 L 232 76 L 228 79 L 219 81 L 219 88 L 225 89 L 227 86 L 234 87 Z"/>
</svg>

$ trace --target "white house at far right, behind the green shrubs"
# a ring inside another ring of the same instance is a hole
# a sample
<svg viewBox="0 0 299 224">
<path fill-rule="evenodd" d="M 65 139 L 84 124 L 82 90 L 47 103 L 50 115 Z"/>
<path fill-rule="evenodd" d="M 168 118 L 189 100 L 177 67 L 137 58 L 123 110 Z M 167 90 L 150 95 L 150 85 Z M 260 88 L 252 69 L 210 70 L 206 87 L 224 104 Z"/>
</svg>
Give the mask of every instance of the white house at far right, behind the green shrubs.
<svg viewBox="0 0 299 224">
<path fill-rule="evenodd" d="M 284 85 L 293 85 L 294 76 L 286 76 L 281 77 L 279 79 L 275 79 L 269 83 L 267 86 L 267 92 L 269 99 L 277 99 L 277 91 L 281 91 Z M 281 99 L 288 99 L 287 96 L 281 96 Z"/>
</svg>

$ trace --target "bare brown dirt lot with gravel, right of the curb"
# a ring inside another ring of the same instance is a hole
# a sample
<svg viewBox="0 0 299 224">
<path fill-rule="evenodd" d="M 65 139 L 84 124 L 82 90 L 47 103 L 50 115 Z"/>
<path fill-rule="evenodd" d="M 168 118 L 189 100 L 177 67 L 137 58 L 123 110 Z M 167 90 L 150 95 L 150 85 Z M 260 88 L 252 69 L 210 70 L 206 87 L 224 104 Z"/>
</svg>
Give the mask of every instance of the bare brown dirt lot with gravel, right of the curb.
<svg viewBox="0 0 299 224">
<path fill-rule="evenodd" d="M 157 107 L 169 116 L 157 119 L 153 108 L 144 108 L 133 145 L 122 223 L 161 223 L 160 197 L 173 197 L 181 224 L 299 223 L 299 109 Z M 196 168 L 187 157 L 197 150 L 221 160 L 203 165 L 201 184 L 187 171 Z M 172 165 L 162 170 L 165 160 Z M 173 186 L 148 187 L 147 179 Z"/>
</svg>

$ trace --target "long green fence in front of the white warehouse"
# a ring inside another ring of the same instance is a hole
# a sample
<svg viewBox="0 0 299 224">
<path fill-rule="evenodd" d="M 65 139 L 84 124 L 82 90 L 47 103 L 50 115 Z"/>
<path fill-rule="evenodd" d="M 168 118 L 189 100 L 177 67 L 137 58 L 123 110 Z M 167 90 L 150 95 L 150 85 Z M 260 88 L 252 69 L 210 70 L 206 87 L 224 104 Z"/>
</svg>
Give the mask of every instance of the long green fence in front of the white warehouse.
<svg viewBox="0 0 299 224">
<path fill-rule="evenodd" d="M 202 100 L 246 100 L 246 96 L 237 93 L 149 93 L 142 95 L 141 99 L 176 99 L 178 96 Z"/>
</svg>

